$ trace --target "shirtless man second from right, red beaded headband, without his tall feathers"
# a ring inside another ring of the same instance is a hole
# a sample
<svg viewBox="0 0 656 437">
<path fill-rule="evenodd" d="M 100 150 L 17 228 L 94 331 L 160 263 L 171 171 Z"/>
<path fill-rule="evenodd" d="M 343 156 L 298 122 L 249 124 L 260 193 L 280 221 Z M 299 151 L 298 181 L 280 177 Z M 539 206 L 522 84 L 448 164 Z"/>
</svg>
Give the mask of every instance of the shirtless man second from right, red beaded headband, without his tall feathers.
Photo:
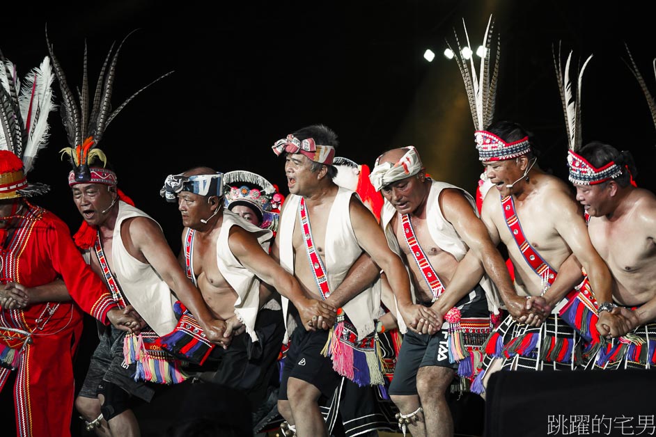
<svg viewBox="0 0 656 437">
<path fill-rule="evenodd" d="M 581 262 L 600 304 L 611 301 L 610 273 L 588 238 L 580 205 L 572 198 L 568 186 L 536 165 L 529 136 L 520 125 L 495 122 L 487 130 L 476 132 L 476 143 L 479 159 L 494 184 L 485 196 L 481 218 L 492 241 L 495 244 L 502 241 L 508 249 L 515 267 L 517 296 L 513 296 L 513 300 L 542 296 L 549 308 L 554 308 L 539 328 L 531 328 L 511 317 L 503 321 L 492 335 L 493 341 L 500 336 L 499 342 L 502 340 L 504 347 L 508 347 L 510 340 L 535 335 L 535 342 L 531 342 L 534 347 L 510 351 L 510 358 L 496 358 L 502 351 L 495 350 L 494 356 L 486 357 L 484 382 L 487 383 L 490 374 L 501 367 L 509 370 L 573 369 L 572 344 L 577 343 L 578 336 L 557 313 L 565 304 L 564 294 L 577 285 L 581 272 L 577 268 L 564 268 L 565 261 L 570 262 L 573 253 Z M 522 237 L 528 244 L 522 244 Z M 529 262 L 536 267 L 531 267 Z M 559 285 L 549 287 L 561 267 L 556 281 Z M 624 324 L 623 317 L 601 312 L 596 328 L 600 335 L 616 336 Z M 545 336 L 568 340 L 568 349 L 559 353 L 552 349 L 540 350 Z M 479 386 L 478 391 L 482 390 Z"/>
</svg>

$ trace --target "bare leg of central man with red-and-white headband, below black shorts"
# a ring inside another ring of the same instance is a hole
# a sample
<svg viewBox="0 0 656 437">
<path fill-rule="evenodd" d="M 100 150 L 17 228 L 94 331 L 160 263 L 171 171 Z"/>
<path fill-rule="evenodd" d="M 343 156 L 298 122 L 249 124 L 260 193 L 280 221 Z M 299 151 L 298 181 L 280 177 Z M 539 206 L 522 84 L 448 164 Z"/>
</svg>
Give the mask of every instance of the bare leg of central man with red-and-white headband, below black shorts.
<svg viewBox="0 0 656 437">
<path fill-rule="evenodd" d="M 297 378 L 287 381 L 287 397 L 299 437 L 328 437 L 326 422 L 317 403 L 320 396 L 319 389 L 309 382 Z"/>
</svg>

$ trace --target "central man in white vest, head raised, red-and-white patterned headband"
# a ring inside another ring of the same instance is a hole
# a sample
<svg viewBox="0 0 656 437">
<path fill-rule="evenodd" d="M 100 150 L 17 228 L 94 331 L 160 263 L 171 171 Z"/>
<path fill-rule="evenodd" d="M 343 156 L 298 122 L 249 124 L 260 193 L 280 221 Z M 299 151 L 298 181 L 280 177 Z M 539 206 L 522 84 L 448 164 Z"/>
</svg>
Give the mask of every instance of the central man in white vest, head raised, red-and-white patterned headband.
<svg viewBox="0 0 656 437">
<path fill-rule="evenodd" d="M 364 252 L 386 273 L 399 296 L 409 296 L 409 279 L 398 255 L 386 245 L 375 217 L 354 192 L 333 182 L 337 136 L 323 125 L 299 129 L 277 141 L 286 157 L 286 198 L 272 255 L 315 299 L 340 308 L 327 331 L 296 329 L 283 368 L 279 411 L 299 436 L 327 436 L 318 400 L 330 396 L 341 376 L 359 385 L 383 382 L 377 362 L 375 318 L 380 291 L 338 289 Z M 356 274 L 357 276 L 357 274 Z M 401 315 L 416 326 L 437 318 L 428 308 L 398 298 Z M 283 312 L 291 310 L 283 299 Z M 293 312 L 293 311 L 292 311 Z M 314 325 L 318 326 L 318 325 Z"/>
</svg>

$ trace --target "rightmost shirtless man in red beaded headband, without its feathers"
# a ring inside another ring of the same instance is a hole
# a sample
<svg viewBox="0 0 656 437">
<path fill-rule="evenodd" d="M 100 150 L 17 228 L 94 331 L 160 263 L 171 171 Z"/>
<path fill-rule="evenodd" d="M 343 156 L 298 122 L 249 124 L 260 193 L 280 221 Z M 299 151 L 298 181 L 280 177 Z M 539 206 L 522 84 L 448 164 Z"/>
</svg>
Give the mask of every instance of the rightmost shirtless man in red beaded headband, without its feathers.
<svg viewBox="0 0 656 437">
<path fill-rule="evenodd" d="M 629 152 L 593 142 L 577 153 L 570 152 L 569 161 L 570 182 L 577 190 L 577 200 L 590 216 L 588 234 L 611 271 L 613 299 L 620 305 L 609 301 L 600 311 L 622 314 L 627 319 L 627 331 L 644 340 L 653 338 L 656 335 L 656 196 L 635 186 L 636 168 Z M 634 307 L 637 308 L 632 310 Z M 616 342 L 609 344 L 602 354 L 610 356 L 607 352 L 617 346 Z M 653 368 L 653 355 L 647 354 L 638 362 L 628 360 L 630 349 L 623 349 L 625 353 L 612 360 L 595 363 L 595 367 Z"/>
</svg>

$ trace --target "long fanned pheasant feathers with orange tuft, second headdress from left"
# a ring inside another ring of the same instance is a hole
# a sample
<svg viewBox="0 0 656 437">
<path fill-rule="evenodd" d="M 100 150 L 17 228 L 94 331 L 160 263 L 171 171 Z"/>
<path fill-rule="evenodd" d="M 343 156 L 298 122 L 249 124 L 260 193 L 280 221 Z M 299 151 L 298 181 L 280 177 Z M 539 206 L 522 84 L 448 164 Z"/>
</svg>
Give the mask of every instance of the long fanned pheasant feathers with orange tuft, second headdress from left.
<svg viewBox="0 0 656 437">
<path fill-rule="evenodd" d="M 66 75 L 54 55 L 53 46 L 50 44 L 46 32 L 48 51 L 52 58 L 52 65 L 59 83 L 59 88 L 61 89 L 61 120 L 63 121 L 68 136 L 68 143 L 70 144 L 70 147 L 61 150 L 62 156 L 63 154 L 68 154 L 70 164 L 73 167 L 74 174 L 72 178 L 69 178 L 69 184 L 71 184 L 71 182 L 91 182 L 93 177 L 91 175 L 91 170 L 89 170 L 89 164 L 92 161 L 102 161 L 103 166 L 107 165 L 107 156 L 98 148 L 98 144 L 102 140 L 102 136 L 109 126 L 109 123 L 111 123 L 125 105 L 134 99 L 136 95 L 141 93 L 141 91 L 172 73 L 168 72 L 162 74 L 162 76 L 136 91 L 136 93 L 128 97 L 123 104 L 120 104 L 120 106 L 112 110 L 111 93 L 112 88 L 114 87 L 118 53 L 121 47 L 123 47 L 123 43 L 127 37 L 131 34 L 132 33 L 123 38 L 123 41 L 120 42 L 114 53 L 114 44 L 111 45 L 98 76 L 93 100 L 90 102 L 86 42 L 84 44 L 82 88 L 81 90 L 78 90 L 78 99 L 76 100 L 75 94 L 68 86 Z"/>
</svg>

